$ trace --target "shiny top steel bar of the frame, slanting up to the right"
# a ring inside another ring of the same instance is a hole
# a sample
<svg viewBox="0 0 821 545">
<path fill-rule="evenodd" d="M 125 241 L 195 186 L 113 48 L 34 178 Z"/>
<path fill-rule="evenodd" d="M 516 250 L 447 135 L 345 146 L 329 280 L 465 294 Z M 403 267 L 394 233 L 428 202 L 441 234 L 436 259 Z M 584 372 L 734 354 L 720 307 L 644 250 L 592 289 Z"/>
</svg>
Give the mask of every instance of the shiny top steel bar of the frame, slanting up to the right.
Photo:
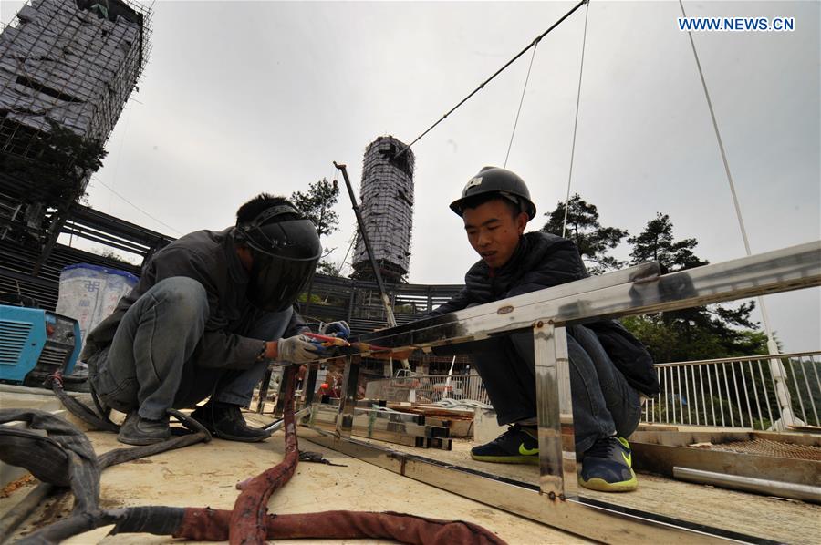
<svg viewBox="0 0 821 545">
<path fill-rule="evenodd" d="M 663 276 L 630 280 L 623 274 L 629 271 L 364 334 L 359 341 L 395 349 L 433 346 L 524 330 L 544 319 L 556 325 L 584 323 L 813 287 L 821 285 L 821 241 Z"/>
</svg>

